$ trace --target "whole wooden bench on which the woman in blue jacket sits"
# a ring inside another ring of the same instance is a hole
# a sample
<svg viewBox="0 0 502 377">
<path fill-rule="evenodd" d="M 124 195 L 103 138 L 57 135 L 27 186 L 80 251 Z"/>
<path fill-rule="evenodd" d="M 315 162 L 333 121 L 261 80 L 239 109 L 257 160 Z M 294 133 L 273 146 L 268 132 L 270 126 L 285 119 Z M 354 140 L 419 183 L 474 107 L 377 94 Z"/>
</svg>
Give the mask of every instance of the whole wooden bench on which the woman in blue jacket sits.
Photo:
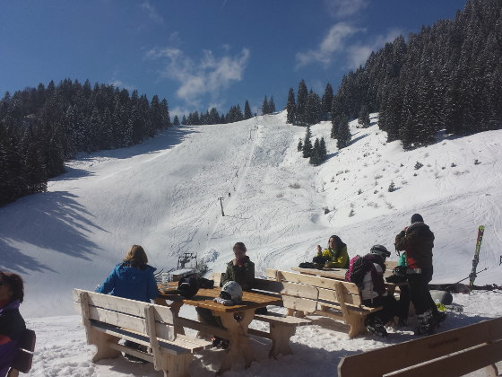
<svg viewBox="0 0 502 377">
<path fill-rule="evenodd" d="M 73 298 L 82 314 L 87 343 L 98 348 L 94 363 L 124 352 L 153 363 L 164 376 L 182 377 L 188 375 L 194 353 L 211 346 L 208 341 L 177 334 L 177 316 L 168 306 L 80 289 L 74 289 Z M 120 339 L 146 346 L 147 351 L 119 345 Z"/>
</svg>

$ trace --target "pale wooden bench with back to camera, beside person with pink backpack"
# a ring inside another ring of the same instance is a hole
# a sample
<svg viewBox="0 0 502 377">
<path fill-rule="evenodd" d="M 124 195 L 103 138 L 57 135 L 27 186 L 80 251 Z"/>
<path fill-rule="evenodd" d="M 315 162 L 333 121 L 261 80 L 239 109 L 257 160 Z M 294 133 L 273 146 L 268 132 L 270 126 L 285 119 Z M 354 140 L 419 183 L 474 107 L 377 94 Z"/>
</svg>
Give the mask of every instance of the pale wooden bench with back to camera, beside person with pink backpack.
<svg viewBox="0 0 502 377">
<path fill-rule="evenodd" d="M 272 268 L 266 269 L 266 276 L 282 283 L 282 302 L 289 315 L 316 314 L 342 320 L 350 327 L 350 338 L 364 334 L 366 316 L 382 309 L 363 305 L 359 287 L 353 283 Z"/>
</svg>

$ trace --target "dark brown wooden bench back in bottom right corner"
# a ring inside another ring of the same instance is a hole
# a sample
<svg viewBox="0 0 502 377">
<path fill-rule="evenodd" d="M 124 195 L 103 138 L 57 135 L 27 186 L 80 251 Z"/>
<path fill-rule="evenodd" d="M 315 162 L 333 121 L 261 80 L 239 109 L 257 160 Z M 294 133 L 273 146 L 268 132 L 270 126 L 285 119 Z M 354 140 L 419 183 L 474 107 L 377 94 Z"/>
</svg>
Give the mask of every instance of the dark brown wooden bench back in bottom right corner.
<svg viewBox="0 0 502 377">
<path fill-rule="evenodd" d="M 498 376 L 495 363 L 500 360 L 502 318 L 343 357 L 338 376 L 454 377 L 484 367 L 487 375 Z"/>
</svg>

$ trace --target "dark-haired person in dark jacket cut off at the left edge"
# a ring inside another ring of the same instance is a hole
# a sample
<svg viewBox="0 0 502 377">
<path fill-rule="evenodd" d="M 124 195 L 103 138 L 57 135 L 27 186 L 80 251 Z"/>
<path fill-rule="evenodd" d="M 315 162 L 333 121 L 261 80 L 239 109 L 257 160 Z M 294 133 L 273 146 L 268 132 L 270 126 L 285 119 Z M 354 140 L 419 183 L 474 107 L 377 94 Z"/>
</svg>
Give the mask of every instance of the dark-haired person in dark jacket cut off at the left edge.
<svg viewBox="0 0 502 377">
<path fill-rule="evenodd" d="M 0 377 L 4 377 L 18 352 L 26 329 L 19 305 L 24 298 L 22 277 L 0 271 Z"/>
</svg>

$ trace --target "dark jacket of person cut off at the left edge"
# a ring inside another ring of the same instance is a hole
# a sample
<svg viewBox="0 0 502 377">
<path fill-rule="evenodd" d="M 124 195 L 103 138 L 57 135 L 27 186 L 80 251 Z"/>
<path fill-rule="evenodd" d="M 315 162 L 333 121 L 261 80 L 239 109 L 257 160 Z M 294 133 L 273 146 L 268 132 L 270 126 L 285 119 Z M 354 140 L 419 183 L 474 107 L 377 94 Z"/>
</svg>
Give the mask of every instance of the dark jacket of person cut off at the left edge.
<svg viewBox="0 0 502 377">
<path fill-rule="evenodd" d="M 26 329 L 24 320 L 19 312 L 19 300 L 7 303 L 0 308 L 0 377 L 9 371 L 15 355 L 18 352 L 18 341 Z"/>
</svg>

